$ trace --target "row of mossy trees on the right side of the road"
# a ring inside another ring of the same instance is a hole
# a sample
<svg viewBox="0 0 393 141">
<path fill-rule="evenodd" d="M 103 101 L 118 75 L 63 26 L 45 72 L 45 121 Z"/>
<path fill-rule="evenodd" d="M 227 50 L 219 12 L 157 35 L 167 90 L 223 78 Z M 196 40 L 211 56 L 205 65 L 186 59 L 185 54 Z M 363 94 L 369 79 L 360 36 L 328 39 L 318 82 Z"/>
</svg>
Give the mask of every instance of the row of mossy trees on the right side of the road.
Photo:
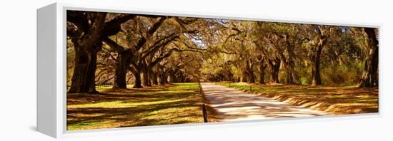
<svg viewBox="0 0 393 141">
<path fill-rule="evenodd" d="M 221 26 L 219 52 L 203 69 L 209 80 L 378 85 L 377 28 L 232 20 Z"/>
</svg>

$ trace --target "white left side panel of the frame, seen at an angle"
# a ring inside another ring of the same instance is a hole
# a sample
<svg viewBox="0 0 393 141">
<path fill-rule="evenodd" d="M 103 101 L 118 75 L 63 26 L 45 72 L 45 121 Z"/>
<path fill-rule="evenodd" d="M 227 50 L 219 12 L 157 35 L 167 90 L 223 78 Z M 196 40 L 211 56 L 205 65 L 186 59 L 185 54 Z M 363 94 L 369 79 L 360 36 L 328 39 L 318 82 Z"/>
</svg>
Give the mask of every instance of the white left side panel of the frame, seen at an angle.
<svg viewBox="0 0 393 141">
<path fill-rule="evenodd" d="M 56 4 L 37 10 L 37 130 L 57 136 Z"/>
</svg>

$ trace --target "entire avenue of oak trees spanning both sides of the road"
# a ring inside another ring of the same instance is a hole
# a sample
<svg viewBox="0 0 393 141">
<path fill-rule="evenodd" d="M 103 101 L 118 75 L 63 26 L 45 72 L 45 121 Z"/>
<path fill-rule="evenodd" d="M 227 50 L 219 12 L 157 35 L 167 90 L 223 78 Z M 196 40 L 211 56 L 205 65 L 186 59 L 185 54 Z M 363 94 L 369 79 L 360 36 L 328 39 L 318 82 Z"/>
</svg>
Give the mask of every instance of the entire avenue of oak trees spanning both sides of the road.
<svg viewBox="0 0 393 141">
<path fill-rule="evenodd" d="M 67 11 L 68 93 L 199 80 L 378 85 L 377 28 Z"/>
</svg>

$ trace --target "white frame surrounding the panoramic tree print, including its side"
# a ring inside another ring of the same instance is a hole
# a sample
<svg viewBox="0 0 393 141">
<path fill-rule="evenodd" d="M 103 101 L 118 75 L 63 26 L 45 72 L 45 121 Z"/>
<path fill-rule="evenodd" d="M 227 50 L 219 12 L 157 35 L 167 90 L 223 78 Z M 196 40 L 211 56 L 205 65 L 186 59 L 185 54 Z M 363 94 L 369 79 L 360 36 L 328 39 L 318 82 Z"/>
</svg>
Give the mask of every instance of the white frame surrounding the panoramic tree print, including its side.
<svg viewBox="0 0 393 141">
<path fill-rule="evenodd" d="M 311 23 L 334 26 L 362 26 L 379 28 L 379 35 L 381 35 L 382 32 L 382 24 L 380 23 L 354 24 L 346 21 L 315 21 L 309 19 L 282 20 L 269 16 L 250 16 L 241 14 L 228 15 L 212 13 L 197 14 L 197 12 L 174 11 L 168 9 L 80 6 L 65 3 L 54 3 L 49 6 L 44 6 L 41 9 L 37 9 L 37 130 L 44 133 L 45 135 L 56 138 L 96 135 L 125 135 L 130 133 L 144 132 L 170 132 L 174 130 L 197 130 L 204 128 L 243 127 L 252 125 L 286 124 L 293 122 L 329 121 L 333 118 L 334 120 L 347 120 L 382 117 L 382 85 L 379 83 L 379 113 L 330 115 L 323 117 L 302 117 L 278 120 L 212 122 L 209 124 L 196 123 L 145 127 L 121 127 L 102 130 L 66 131 L 66 26 L 64 26 L 66 25 L 66 10 L 105 11 L 127 14 L 189 16 L 214 19 L 274 21 L 287 23 Z M 379 36 L 379 40 L 382 40 L 381 36 Z M 381 41 L 379 43 L 381 43 Z M 379 48 L 379 52 L 380 51 L 381 49 Z M 379 82 L 382 81 L 382 70 L 380 69 L 382 61 L 381 58 L 382 57 L 379 56 Z"/>
</svg>

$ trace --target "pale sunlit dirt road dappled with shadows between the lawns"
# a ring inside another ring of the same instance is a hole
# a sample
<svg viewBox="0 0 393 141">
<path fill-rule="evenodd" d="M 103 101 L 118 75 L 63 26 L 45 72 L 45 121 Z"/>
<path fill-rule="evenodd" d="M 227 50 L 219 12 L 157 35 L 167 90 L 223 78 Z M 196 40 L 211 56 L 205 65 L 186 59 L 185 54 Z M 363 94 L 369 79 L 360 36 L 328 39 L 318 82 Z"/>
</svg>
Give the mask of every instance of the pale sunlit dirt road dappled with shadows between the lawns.
<svg viewBox="0 0 393 141">
<path fill-rule="evenodd" d="M 210 106 L 217 110 L 219 116 L 223 118 L 222 121 L 328 115 L 321 111 L 299 108 L 214 83 L 201 83 L 201 85 Z"/>
</svg>

